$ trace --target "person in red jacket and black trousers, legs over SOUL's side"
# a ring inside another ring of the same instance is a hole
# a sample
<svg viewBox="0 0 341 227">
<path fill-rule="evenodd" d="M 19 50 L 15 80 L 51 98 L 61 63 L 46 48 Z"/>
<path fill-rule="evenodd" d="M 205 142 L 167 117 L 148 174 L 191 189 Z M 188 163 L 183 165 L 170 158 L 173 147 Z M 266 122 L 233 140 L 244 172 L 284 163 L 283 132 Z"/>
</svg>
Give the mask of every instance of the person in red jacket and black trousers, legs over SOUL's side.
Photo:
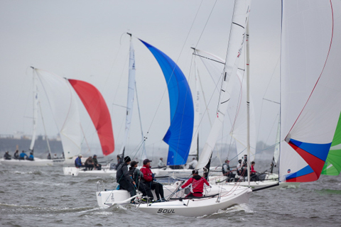
<svg viewBox="0 0 341 227">
<path fill-rule="evenodd" d="M 163 195 L 163 185 L 155 182 L 154 174 L 151 172 L 151 160 L 145 159 L 144 166 L 141 167 L 140 171 L 144 174 L 144 179 L 142 182 L 146 184 L 150 189 L 155 189 L 155 194 L 157 201 L 166 201 L 165 196 Z"/>
</svg>

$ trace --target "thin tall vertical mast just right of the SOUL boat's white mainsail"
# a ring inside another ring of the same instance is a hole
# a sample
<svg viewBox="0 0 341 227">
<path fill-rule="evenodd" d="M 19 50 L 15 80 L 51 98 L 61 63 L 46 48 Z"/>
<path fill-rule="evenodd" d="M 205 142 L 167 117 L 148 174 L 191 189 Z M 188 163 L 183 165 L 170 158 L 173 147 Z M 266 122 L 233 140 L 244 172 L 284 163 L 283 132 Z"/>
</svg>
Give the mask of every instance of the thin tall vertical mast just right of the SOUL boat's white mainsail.
<svg viewBox="0 0 341 227">
<path fill-rule="evenodd" d="M 247 182 L 250 187 L 250 56 L 249 56 L 249 22 L 247 22 L 247 48 L 245 50 L 247 57 Z"/>
</svg>

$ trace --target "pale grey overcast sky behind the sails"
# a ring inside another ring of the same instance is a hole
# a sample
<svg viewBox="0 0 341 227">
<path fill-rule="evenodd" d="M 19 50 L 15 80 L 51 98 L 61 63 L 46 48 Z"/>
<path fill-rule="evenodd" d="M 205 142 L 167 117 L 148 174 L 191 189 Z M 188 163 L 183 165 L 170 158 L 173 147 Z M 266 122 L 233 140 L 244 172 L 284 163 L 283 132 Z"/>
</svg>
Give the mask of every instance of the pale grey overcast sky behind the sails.
<svg viewBox="0 0 341 227">
<path fill-rule="evenodd" d="M 217 1 L 216 4 L 215 1 L 198 0 L 0 1 L 0 133 L 23 131 L 31 134 L 33 101 L 29 67 L 32 65 L 97 87 L 112 114 L 116 149 L 119 149 L 124 134 L 125 110 L 113 104 L 126 106 L 129 36 L 124 33 L 133 33 L 178 62 L 191 86 L 190 47 L 224 58 L 233 4 L 232 0 Z M 249 26 L 251 95 L 257 126 L 261 124 L 258 138 L 269 140 L 270 144 L 274 143 L 276 128 L 271 131 L 271 127 L 278 104 L 262 101 L 262 98 L 279 101 L 281 1 L 253 1 Z M 169 126 L 168 94 L 163 96 L 167 91 L 166 82 L 151 52 L 136 38 L 134 47 L 144 133 L 149 130 L 147 145 L 151 148 L 154 144 L 154 149 L 164 148 L 166 145 L 161 140 Z M 200 76 L 209 99 L 214 87 L 202 66 Z M 52 114 L 44 97 L 40 95 L 40 99 L 48 135 L 54 136 L 58 132 Z M 215 101 L 210 106 L 213 117 L 216 105 Z M 80 112 L 88 142 L 98 143 L 85 109 Z M 209 130 L 208 121 L 204 119 L 200 145 L 205 143 Z M 38 134 L 43 134 L 41 121 Z M 134 106 L 129 145 L 136 145 L 140 140 L 137 108 Z"/>
</svg>

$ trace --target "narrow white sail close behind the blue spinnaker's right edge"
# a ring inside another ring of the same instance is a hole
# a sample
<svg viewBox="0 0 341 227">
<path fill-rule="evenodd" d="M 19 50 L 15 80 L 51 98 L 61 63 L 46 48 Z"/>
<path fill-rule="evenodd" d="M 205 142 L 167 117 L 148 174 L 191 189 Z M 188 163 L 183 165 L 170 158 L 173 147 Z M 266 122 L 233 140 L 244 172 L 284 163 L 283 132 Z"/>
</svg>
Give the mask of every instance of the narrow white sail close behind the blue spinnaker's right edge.
<svg viewBox="0 0 341 227">
<path fill-rule="evenodd" d="M 195 97 L 194 100 L 194 125 L 193 125 L 193 139 L 190 145 L 190 153 L 188 155 L 197 155 L 197 140 L 199 133 L 199 123 L 200 123 L 200 84 L 199 84 L 199 72 L 197 71 L 196 57 L 194 56 L 194 69 L 195 69 Z"/>
</svg>

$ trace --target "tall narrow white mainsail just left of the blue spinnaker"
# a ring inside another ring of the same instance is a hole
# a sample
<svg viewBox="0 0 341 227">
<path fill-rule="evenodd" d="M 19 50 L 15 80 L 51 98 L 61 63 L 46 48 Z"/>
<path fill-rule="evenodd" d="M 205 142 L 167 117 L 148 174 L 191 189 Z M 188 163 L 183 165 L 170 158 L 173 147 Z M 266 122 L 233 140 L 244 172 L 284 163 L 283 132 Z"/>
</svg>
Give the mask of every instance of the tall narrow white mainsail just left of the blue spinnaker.
<svg viewBox="0 0 341 227">
<path fill-rule="evenodd" d="M 124 142 L 119 151 L 119 155 L 124 153 L 126 146 L 126 139 L 129 135 L 131 116 L 133 116 L 133 105 L 135 96 L 135 52 L 133 41 L 130 38 L 130 48 L 129 48 L 129 79 L 128 79 L 128 96 L 126 98 L 126 128 L 124 131 Z"/>
</svg>

